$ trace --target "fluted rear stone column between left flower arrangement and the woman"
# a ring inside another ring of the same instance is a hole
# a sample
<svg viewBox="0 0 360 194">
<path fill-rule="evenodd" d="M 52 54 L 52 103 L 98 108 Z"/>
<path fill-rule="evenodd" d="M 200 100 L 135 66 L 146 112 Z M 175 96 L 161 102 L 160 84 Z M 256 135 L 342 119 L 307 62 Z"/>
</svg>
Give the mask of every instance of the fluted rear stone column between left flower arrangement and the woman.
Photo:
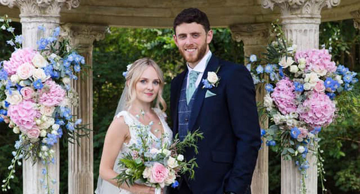
<svg viewBox="0 0 360 194">
<path fill-rule="evenodd" d="M 93 130 L 93 42 L 105 37 L 105 26 L 84 23 L 67 23 L 62 25 L 63 35 L 70 39 L 73 48 L 85 57 L 86 65 L 79 79 L 72 86 L 79 95 L 79 106 L 73 110 L 82 124 Z M 80 146 L 69 144 L 68 191 L 69 194 L 94 193 L 93 176 L 93 131 L 89 138 L 80 138 Z"/>
</svg>

